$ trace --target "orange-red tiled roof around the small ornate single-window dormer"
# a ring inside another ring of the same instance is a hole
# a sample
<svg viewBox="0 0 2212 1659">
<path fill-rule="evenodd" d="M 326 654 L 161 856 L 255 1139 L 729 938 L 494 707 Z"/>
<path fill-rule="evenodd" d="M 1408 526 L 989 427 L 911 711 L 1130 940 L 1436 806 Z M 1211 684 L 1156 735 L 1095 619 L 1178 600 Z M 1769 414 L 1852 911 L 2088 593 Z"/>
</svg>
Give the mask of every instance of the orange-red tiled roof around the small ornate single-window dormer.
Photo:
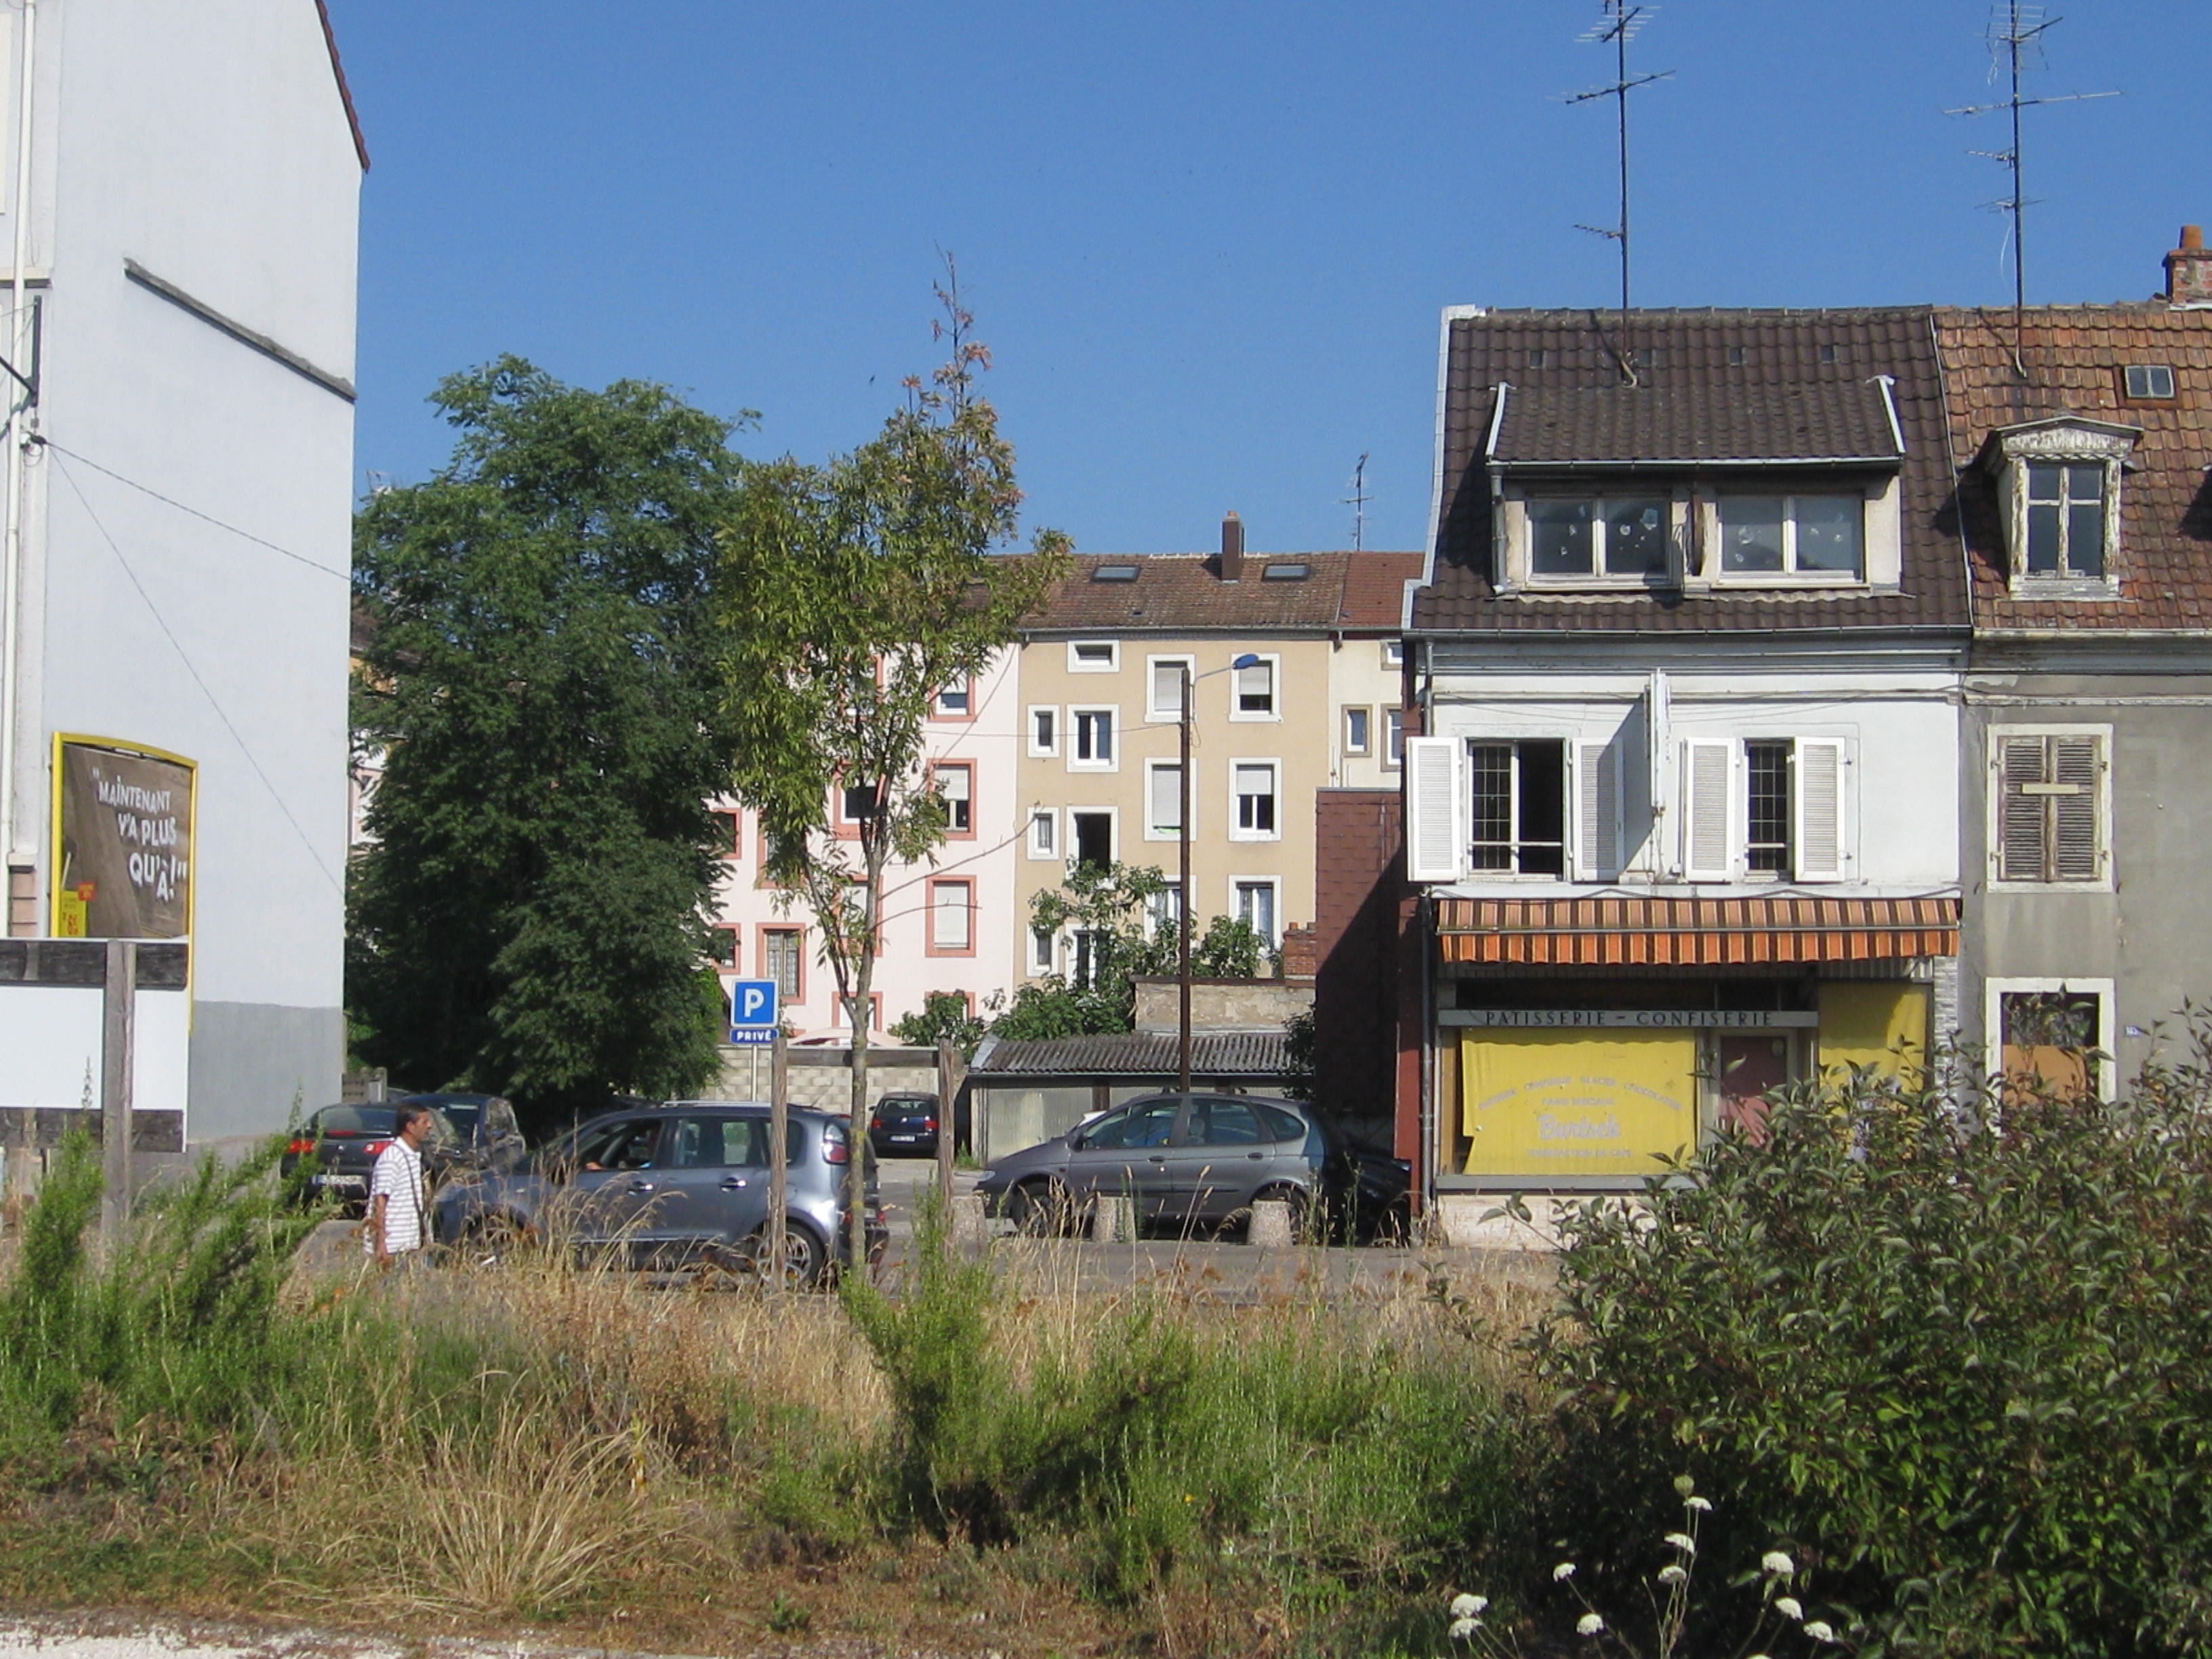
<svg viewBox="0 0 2212 1659">
<path fill-rule="evenodd" d="M 2046 305 L 2013 314 L 1938 310 L 1951 458 L 1960 469 L 1978 628 L 2212 628 L 2212 312 Z M 2163 363 L 2174 396 L 2130 400 L 2121 369 Z M 2026 369 L 2022 378 L 2020 369 Z M 2057 414 L 2139 427 L 2119 487 L 2117 599 L 2015 599 L 1995 480 L 1973 467 L 1993 429 Z"/>
</svg>

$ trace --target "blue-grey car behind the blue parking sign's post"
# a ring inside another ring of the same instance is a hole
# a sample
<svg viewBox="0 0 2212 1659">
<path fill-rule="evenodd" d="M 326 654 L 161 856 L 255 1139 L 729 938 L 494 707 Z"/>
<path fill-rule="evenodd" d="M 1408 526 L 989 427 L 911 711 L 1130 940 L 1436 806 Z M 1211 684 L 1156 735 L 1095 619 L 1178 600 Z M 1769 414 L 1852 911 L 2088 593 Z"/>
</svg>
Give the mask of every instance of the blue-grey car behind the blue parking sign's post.
<svg viewBox="0 0 2212 1659">
<path fill-rule="evenodd" d="M 431 1237 L 498 1248 L 557 1237 L 577 1252 L 615 1252 L 633 1267 L 763 1267 L 768 1248 L 770 1110 L 759 1102 L 677 1099 L 606 1113 L 549 1141 L 515 1170 L 447 1181 L 431 1201 Z M 845 1121 L 790 1108 L 785 1133 L 783 1272 L 799 1283 L 849 1265 Z M 865 1152 L 863 1152 L 865 1159 Z M 889 1237 L 865 1161 L 869 1254 Z"/>
</svg>

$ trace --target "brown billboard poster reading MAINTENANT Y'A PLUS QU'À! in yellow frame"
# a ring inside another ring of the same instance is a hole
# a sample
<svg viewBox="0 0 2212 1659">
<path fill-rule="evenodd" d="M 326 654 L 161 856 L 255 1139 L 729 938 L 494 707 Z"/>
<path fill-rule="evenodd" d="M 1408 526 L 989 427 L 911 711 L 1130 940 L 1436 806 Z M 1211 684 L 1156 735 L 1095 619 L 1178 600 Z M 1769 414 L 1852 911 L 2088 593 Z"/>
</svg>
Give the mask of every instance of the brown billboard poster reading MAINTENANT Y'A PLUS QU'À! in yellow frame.
<svg viewBox="0 0 2212 1659">
<path fill-rule="evenodd" d="M 53 739 L 55 938 L 192 931 L 192 785 L 181 754 Z"/>
</svg>

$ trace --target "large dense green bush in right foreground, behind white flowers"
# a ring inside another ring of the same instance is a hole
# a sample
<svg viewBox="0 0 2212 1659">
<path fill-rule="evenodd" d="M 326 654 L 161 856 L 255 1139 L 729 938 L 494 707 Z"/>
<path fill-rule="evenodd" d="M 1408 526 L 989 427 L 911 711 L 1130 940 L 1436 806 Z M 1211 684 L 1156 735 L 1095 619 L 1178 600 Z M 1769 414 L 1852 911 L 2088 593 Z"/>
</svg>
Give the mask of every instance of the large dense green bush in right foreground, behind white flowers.
<svg viewBox="0 0 2212 1659">
<path fill-rule="evenodd" d="M 1646 1575 L 1690 1469 L 1712 1548 L 1792 1546 L 1867 1646 L 2212 1652 L 2205 1082 L 1798 1088 L 1582 1206 L 1537 1336 L 1562 1542 Z"/>
</svg>

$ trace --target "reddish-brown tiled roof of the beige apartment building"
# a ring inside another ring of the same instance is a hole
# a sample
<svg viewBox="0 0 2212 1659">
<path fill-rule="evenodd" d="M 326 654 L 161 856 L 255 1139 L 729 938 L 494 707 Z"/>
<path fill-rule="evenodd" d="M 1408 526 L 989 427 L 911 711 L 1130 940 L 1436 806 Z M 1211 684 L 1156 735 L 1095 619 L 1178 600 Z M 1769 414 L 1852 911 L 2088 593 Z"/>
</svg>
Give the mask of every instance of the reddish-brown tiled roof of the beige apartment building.
<svg viewBox="0 0 2212 1659">
<path fill-rule="evenodd" d="M 1102 582 L 1102 566 L 1135 577 Z M 1270 580 L 1267 566 L 1305 575 Z M 1418 575 L 1418 553 L 1245 553 L 1237 582 L 1223 582 L 1221 560 L 1201 553 L 1086 553 L 1022 626 L 1033 633 L 1396 628 L 1405 582 Z"/>
</svg>

